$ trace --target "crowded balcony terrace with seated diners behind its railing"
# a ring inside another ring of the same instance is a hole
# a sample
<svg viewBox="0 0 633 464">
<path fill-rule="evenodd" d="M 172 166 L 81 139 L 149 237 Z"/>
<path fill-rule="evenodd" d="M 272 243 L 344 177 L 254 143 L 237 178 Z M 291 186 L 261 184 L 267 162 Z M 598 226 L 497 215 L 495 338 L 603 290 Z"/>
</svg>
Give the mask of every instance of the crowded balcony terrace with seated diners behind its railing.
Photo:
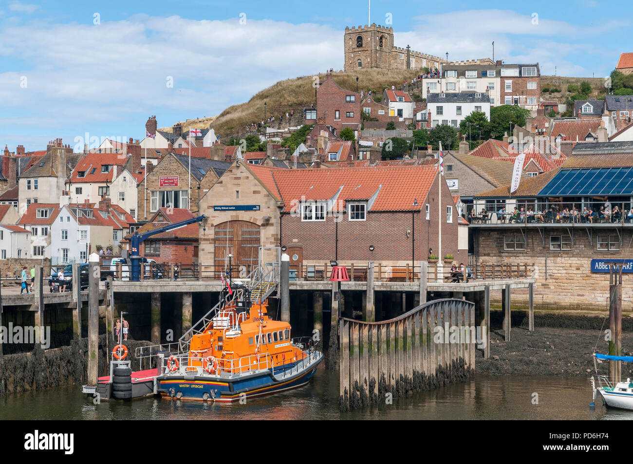
<svg viewBox="0 0 633 464">
<path fill-rule="evenodd" d="M 467 220 L 471 224 L 633 224 L 633 204 L 628 202 L 518 201 L 512 211 L 501 206 L 475 205 Z"/>
</svg>

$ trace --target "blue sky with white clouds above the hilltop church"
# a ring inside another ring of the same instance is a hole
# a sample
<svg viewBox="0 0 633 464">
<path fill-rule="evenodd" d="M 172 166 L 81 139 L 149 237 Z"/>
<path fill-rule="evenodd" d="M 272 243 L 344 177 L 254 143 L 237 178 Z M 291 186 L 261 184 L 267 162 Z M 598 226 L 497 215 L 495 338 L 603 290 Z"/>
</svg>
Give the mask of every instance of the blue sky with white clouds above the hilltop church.
<svg viewBox="0 0 633 464">
<path fill-rule="evenodd" d="M 0 148 L 142 139 L 218 115 L 279 80 L 343 67 L 346 26 L 368 0 L 0 0 Z M 449 60 L 538 62 L 542 75 L 605 77 L 630 35 L 624 1 L 371 1 L 395 45 Z M 618 31 L 621 32 L 618 33 Z"/>
</svg>

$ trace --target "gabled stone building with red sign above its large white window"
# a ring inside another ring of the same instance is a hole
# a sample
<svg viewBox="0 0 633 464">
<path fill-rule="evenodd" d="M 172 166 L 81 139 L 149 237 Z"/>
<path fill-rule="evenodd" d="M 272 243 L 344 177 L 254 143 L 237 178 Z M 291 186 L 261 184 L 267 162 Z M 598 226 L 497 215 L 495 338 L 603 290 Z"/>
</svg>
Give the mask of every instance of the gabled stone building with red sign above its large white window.
<svg viewBox="0 0 633 464">
<path fill-rule="evenodd" d="M 192 156 L 190 173 L 189 156 L 165 154 L 158 165 L 147 173 L 146 179 L 137 185 L 139 197 L 137 217 L 139 220 L 150 218 L 159 208 L 169 206 L 173 208 L 189 206 L 192 213 L 197 213 L 198 201 L 229 166 L 230 163 L 227 161 Z M 191 198 L 191 203 L 189 203 L 189 198 Z"/>
</svg>

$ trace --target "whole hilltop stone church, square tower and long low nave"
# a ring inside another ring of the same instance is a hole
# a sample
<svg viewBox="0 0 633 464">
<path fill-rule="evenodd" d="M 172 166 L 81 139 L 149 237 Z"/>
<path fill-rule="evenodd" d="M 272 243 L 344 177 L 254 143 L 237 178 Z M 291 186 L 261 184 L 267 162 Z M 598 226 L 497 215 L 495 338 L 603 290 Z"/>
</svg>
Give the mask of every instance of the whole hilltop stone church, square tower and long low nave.
<svg viewBox="0 0 633 464">
<path fill-rule="evenodd" d="M 446 60 L 407 48 L 394 47 L 392 27 L 345 28 L 345 70 L 358 68 L 422 69 L 438 68 Z"/>
</svg>

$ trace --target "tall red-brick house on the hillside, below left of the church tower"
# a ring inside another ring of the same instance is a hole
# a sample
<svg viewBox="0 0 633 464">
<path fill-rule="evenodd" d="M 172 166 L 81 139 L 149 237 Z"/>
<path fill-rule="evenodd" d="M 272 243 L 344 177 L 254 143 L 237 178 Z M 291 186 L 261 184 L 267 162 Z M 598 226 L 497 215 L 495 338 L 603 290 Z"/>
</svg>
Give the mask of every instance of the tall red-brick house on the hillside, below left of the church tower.
<svg viewBox="0 0 633 464">
<path fill-rule="evenodd" d="M 358 137 L 360 100 L 360 94 L 339 87 L 332 79 L 332 70 L 329 70 L 325 74 L 325 82 L 316 89 L 316 120 L 334 128 L 335 133 L 349 127 Z"/>
</svg>

